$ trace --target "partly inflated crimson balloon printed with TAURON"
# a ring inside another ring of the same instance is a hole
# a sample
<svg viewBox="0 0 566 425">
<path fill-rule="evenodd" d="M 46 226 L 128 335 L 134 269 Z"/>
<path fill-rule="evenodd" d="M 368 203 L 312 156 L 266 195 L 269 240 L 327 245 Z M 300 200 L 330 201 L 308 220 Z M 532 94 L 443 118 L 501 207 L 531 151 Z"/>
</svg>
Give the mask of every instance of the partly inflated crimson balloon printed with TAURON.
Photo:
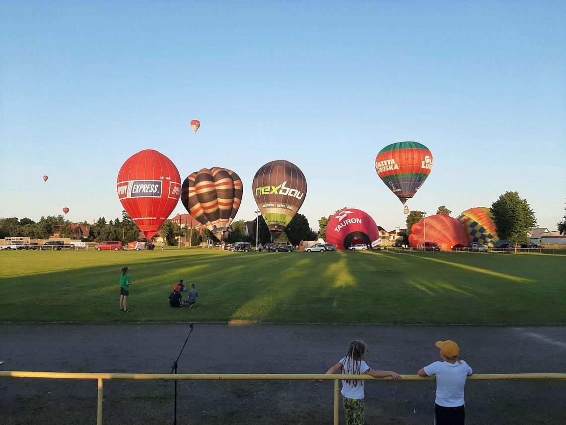
<svg viewBox="0 0 566 425">
<path fill-rule="evenodd" d="M 379 239 L 378 226 L 367 213 L 355 208 L 338 211 L 326 227 L 326 241 L 336 249 L 348 249 L 351 245 L 371 243 Z"/>
</svg>

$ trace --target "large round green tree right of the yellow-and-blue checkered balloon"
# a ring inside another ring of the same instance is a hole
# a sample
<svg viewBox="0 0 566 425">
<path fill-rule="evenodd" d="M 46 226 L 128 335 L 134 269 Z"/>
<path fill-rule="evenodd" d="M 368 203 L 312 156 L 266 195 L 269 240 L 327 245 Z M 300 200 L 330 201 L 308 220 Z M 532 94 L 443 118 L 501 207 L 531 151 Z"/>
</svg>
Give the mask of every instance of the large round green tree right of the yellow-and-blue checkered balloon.
<svg viewBox="0 0 566 425">
<path fill-rule="evenodd" d="M 500 239 L 515 244 L 528 241 L 527 231 L 537 226 L 534 211 L 518 192 L 505 192 L 491 204 L 491 213 Z"/>
</svg>

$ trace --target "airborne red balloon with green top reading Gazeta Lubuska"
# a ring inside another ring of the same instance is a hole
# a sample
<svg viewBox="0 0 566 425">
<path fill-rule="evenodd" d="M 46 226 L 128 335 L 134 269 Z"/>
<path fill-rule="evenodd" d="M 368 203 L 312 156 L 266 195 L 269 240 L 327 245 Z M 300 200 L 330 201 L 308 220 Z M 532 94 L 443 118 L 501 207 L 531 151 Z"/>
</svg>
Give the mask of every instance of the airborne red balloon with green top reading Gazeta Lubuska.
<svg viewBox="0 0 566 425">
<path fill-rule="evenodd" d="M 405 205 L 430 175 L 432 154 L 421 143 L 393 143 L 379 151 L 375 158 L 375 171 Z"/>
</svg>

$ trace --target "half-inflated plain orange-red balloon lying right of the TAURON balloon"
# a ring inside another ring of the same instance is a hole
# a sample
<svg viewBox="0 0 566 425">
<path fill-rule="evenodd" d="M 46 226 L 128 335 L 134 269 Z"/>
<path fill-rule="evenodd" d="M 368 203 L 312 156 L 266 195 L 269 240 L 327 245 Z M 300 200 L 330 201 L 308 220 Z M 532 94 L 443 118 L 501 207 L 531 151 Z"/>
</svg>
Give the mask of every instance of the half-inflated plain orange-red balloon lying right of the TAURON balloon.
<svg viewBox="0 0 566 425">
<path fill-rule="evenodd" d="M 448 214 L 431 215 L 413 224 L 409 235 L 411 247 L 422 244 L 425 235 L 427 242 L 436 242 L 443 251 L 468 246 L 468 235 L 464 226 Z"/>
</svg>

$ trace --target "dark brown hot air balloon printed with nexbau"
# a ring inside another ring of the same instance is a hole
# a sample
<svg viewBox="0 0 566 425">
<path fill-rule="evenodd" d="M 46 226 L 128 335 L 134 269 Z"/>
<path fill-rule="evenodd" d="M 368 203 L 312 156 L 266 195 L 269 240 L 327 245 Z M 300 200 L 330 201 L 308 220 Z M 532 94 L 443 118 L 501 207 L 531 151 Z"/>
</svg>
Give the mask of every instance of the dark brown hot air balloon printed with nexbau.
<svg viewBox="0 0 566 425">
<path fill-rule="evenodd" d="M 279 159 L 260 167 L 252 190 L 271 239 L 276 240 L 303 205 L 307 180 L 297 165 Z"/>
</svg>

